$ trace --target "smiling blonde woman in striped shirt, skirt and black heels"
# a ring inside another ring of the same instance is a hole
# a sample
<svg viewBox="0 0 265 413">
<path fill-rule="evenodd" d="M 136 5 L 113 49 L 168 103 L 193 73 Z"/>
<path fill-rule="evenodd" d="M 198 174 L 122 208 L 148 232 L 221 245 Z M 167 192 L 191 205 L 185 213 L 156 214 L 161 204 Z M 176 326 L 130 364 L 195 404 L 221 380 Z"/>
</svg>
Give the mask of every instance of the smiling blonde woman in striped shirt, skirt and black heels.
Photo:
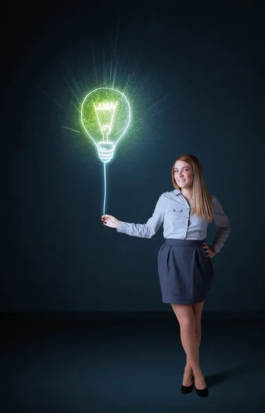
<svg viewBox="0 0 265 413">
<path fill-rule="evenodd" d="M 181 393 L 208 396 L 200 369 L 200 320 L 214 278 L 211 258 L 220 252 L 231 225 L 215 195 L 207 191 L 200 162 L 194 155 L 179 156 L 172 167 L 174 190 L 159 197 L 146 224 L 130 224 L 102 215 L 105 226 L 135 237 L 152 237 L 163 224 L 165 243 L 158 253 L 162 301 L 171 304 L 181 330 L 187 361 Z M 218 231 L 211 246 L 205 244 L 207 226 L 214 220 Z"/>
</svg>

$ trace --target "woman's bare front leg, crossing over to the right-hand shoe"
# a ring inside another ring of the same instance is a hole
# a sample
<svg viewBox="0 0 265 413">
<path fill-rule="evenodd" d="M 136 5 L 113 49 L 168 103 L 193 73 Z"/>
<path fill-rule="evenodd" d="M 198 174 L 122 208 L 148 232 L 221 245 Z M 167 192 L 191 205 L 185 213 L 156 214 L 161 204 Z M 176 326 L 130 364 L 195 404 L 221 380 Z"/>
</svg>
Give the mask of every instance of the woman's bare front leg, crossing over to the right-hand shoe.
<svg viewBox="0 0 265 413">
<path fill-rule="evenodd" d="M 197 389 L 206 387 L 203 372 L 200 369 L 199 355 L 198 355 L 198 339 L 195 331 L 195 317 L 192 305 L 189 304 L 171 304 L 178 323 L 181 328 L 181 343 L 185 350 L 187 360 L 195 378 L 195 385 Z M 183 383 L 185 385 L 185 383 Z"/>
</svg>

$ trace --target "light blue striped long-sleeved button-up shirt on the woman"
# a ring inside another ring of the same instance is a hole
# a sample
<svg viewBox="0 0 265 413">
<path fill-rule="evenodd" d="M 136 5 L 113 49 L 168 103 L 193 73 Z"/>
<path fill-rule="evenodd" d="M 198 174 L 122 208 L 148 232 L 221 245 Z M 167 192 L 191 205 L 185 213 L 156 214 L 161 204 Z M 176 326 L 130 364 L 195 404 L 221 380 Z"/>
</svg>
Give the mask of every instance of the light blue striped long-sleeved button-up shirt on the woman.
<svg viewBox="0 0 265 413">
<path fill-rule="evenodd" d="M 218 253 L 231 233 L 231 225 L 222 205 L 211 195 L 213 220 L 218 228 L 211 248 Z M 178 189 L 160 195 L 152 217 L 146 224 L 119 221 L 117 232 L 134 237 L 151 238 L 163 224 L 163 237 L 178 240 L 205 240 L 208 222 L 204 217 L 190 215 L 192 207 Z"/>
</svg>

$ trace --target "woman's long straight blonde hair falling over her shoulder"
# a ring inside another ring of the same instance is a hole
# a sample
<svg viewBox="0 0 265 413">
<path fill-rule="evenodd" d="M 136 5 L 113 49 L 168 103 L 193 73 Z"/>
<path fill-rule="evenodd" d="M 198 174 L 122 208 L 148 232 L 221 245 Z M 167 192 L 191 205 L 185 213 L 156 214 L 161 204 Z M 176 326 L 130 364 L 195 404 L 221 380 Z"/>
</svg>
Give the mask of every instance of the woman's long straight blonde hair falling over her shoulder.
<svg viewBox="0 0 265 413">
<path fill-rule="evenodd" d="M 193 187 L 192 187 L 192 209 L 191 214 L 194 213 L 197 217 L 204 216 L 208 223 L 212 222 L 213 217 L 213 207 L 211 202 L 211 195 L 207 191 L 205 180 L 203 178 L 203 169 L 200 166 L 200 162 L 194 155 L 181 155 L 175 160 L 172 167 L 172 183 L 174 188 L 181 191 L 181 188 L 178 187 L 176 180 L 174 178 L 174 167 L 177 160 L 183 160 L 192 166 L 193 171 Z"/>
</svg>

